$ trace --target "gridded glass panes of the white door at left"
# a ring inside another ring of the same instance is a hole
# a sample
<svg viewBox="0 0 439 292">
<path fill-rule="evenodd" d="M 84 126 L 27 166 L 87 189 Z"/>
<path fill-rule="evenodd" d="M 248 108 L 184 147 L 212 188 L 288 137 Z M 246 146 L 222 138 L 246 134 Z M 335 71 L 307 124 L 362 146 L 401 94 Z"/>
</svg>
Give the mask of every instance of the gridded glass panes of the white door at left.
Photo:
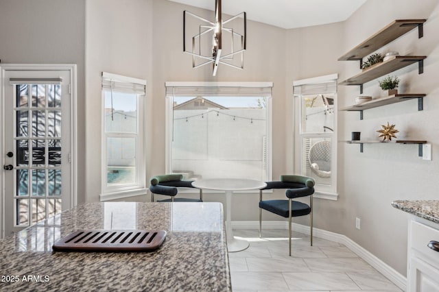
<svg viewBox="0 0 439 292">
<path fill-rule="evenodd" d="M 61 212 L 61 85 L 15 84 L 14 224 L 29 226 Z M 28 129 L 31 129 L 30 131 Z"/>
</svg>

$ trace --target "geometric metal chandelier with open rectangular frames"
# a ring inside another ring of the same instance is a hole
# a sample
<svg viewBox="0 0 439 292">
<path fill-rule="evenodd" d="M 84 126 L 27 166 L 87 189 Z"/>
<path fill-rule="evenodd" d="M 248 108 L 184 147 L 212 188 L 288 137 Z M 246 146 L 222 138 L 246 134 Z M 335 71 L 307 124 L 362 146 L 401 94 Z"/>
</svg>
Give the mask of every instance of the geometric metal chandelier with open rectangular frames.
<svg viewBox="0 0 439 292">
<path fill-rule="evenodd" d="M 213 76 L 216 75 L 219 64 L 237 69 L 244 68 L 246 12 L 241 12 L 222 21 L 221 10 L 221 0 L 215 0 L 214 22 L 187 10 L 183 12 L 183 51 L 192 55 L 193 68 L 212 64 Z M 194 23 L 194 21 L 202 21 L 202 23 Z M 187 30 L 196 30 L 190 39 L 191 51 L 187 51 Z"/>
</svg>

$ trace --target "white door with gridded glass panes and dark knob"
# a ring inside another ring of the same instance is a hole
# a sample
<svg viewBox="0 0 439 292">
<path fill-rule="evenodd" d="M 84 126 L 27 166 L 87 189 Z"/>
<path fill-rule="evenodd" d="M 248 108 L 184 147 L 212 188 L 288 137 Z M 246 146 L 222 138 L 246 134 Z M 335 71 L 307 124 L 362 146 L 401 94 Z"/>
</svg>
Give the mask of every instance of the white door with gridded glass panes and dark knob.
<svg viewBox="0 0 439 292">
<path fill-rule="evenodd" d="M 2 70 L 4 234 L 72 207 L 71 70 Z"/>
</svg>

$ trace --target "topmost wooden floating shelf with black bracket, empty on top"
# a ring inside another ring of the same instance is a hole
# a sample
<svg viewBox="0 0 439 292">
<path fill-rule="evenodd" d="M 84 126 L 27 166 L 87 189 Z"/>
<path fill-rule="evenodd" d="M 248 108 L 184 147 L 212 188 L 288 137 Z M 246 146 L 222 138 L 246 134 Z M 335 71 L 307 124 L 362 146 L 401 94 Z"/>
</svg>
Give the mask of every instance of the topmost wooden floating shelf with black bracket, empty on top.
<svg viewBox="0 0 439 292">
<path fill-rule="evenodd" d="M 423 36 L 423 23 L 427 21 L 426 19 L 399 19 L 393 21 L 383 29 L 381 29 L 376 34 L 370 36 L 364 42 L 357 45 L 357 47 L 351 49 L 343 56 L 338 58 L 339 61 L 351 61 L 351 60 L 361 60 L 370 53 L 376 51 L 380 47 L 387 45 L 392 40 L 399 38 L 403 34 L 410 32 L 412 29 L 418 27 L 418 38 Z"/>
</svg>

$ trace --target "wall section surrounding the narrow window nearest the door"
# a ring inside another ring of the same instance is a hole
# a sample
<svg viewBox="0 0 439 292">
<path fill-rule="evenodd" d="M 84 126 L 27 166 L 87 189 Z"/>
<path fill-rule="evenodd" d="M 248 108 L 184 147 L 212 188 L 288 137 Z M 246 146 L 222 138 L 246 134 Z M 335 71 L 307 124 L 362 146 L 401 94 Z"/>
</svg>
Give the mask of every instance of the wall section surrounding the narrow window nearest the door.
<svg viewBox="0 0 439 292">
<path fill-rule="evenodd" d="M 151 138 L 152 27 L 150 0 L 86 1 L 86 202 L 99 201 L 106 175 L 101 173 L 102 71 L 147 80 L 145 133 Z"/>
</svg>

